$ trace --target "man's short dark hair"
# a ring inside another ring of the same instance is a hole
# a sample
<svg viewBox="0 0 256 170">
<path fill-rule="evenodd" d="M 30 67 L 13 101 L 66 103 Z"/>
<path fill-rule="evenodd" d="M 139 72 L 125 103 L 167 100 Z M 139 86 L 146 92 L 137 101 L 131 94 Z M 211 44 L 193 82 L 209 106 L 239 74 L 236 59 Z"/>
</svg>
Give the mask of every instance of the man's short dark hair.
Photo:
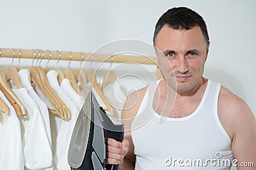
<svg viewBox="0 0 256 170">
<path fill-rule="evenodd" d="M 163 28 L 164 25 L 168 25 L 168 27 L 172 29 L 192 29 L 195 26 L 199 26 L 205 41 L 208 45 L 209 42 L 209 35 L 207 32 L 207 27 L 204 22 L 204 18 L 202 18 L 198 13 L 195 11 L 186 8 L 186 7 L 179 7 L 179 8 L 172 8 L 166 11 L 157 21 L 153 43 L 156 43 L 156 37 L 159 34 L 160 30 Z"/>
</svg>

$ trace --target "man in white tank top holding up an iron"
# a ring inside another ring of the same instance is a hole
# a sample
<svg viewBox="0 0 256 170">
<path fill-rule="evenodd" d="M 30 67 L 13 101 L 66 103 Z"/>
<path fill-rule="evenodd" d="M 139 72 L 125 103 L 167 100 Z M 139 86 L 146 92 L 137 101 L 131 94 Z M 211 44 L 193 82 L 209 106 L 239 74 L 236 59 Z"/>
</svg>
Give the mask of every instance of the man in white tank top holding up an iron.
<svg viewBox="0 0 256 170">
<path fill-rule="evenodd" d="M 202 77 L 210 45 L 204 19 L 184 7 L 166 11 L 154 45 L 164 80 L 127 97 L 125 139 L 108 139 L 106 162 L 119 169 L 256 169 L 252 111 Z"/>
</svg>

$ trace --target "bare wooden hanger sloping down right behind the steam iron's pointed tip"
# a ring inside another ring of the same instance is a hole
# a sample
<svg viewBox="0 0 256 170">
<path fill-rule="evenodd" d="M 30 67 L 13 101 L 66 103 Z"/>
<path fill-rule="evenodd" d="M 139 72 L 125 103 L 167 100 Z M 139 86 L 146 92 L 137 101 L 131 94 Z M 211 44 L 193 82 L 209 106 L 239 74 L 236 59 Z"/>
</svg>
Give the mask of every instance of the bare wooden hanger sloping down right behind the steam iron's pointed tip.
<svg viewBox="0 0 256 170">
<path fill-rule="evenodd" d="M 96 90 L 96 92 L 99 94 L 104 104 L 107 106 L 107 108 L 104 108 L 104 109 L 113 114 L 114 108 L 113 106 L 111 106 L 111 104 L 108 103 L 106 97 L 104 96 L 104 92 L 102 91 L 102 89 L 100 89 L 99 84 L 97 83 L 95 71 L 93 69 L 87 69 L 85 71 L 85 74 L 86 74 L 87 81 L 92 83 L 93 88 Z"/>
</svg>

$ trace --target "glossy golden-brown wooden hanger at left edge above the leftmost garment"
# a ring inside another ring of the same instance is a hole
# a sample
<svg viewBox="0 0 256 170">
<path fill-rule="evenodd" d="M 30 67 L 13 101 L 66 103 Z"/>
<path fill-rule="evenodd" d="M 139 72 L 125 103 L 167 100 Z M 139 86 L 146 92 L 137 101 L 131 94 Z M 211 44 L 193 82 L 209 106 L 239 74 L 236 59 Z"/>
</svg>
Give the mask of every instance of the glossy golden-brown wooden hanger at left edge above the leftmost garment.
<svg viewBox="0 0 256 170">
<path fill-rule="evenodd" d="M 27 111 L 24 105 L 20 102 L 19 98 L 14 94 L 11 87 L 4 76 L 3 67 L 0 66 L 0 89 L 2 90 L 4 96 L 8 99 L 10 104 L 12 104 L 17 115 L 26 117 Z"/>
</svg>

